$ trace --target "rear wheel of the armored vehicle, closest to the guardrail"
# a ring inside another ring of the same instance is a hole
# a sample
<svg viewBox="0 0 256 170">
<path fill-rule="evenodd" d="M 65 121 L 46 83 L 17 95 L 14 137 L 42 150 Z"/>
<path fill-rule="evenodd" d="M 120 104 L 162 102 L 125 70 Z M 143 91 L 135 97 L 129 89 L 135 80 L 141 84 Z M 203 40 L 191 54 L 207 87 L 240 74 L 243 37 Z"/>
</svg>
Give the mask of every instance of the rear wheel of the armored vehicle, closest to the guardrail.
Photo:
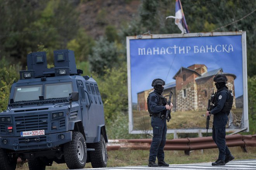
<svg viewBox="0 0 256 170">
<path fill-rule="evenodd" d="M 107 147 L 104 137 L 100 135 L 100 141 L 97 143 L 93 143 L 91 146 L 95 149 L 95 151 L 90 151 L 92 167 L 107 167 Z"/>
</svg>

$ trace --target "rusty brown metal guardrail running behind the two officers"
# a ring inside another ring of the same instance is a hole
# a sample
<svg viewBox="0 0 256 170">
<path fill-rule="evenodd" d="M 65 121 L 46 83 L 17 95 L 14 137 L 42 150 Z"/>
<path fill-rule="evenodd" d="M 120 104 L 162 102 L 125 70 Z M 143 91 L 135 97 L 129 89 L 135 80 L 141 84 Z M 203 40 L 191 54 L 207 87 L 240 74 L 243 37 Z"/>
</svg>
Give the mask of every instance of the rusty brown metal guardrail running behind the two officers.
<svg viewBox="0 0 256 170">
<path fill-rule="evenodd" d="M 152 139 L 115 139 L 109 140 L 107 150 L 149 150 Z M 226 144 L 228 147 L 240 146 L 246 151 L 246 146 L 256 147 L 256 134 L 254 135 L 227 135 Z M 183 139 L 166 140 L 164 150 L 184 151 L 189 155 L 192 150 L 217 148 L 213 138 L 194 137 Z"/>
</svg>

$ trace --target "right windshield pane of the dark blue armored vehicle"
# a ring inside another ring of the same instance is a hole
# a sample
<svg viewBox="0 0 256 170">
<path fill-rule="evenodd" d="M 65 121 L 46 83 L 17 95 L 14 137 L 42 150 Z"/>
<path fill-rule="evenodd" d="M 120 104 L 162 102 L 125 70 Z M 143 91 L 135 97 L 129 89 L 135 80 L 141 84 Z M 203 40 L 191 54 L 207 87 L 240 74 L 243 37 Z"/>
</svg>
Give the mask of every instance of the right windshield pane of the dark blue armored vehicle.
<svg viewBox="0 0 256 170">
<path fill-rule="evenodd" d="M 45 84 L 45 99 L 66 98 L 72 93 L 72 82 Z"/>
</svg>

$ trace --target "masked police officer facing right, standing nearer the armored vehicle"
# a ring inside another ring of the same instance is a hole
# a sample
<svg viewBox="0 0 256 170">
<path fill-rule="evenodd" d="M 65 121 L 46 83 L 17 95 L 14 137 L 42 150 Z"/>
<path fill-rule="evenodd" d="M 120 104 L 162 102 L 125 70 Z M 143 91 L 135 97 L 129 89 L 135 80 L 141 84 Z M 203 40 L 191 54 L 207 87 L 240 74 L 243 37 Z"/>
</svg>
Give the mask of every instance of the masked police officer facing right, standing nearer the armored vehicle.
<svg viewBox="0 0 256 170">
<path fill-rule="evenodd" d="M 162 96 L 165 82 L 162 79 L 154 79 L 151 86 L 154 91 L 147 98 L 147 106 L 151 116 L 151 126 L 153 128 L 153 139 L 149 153 L 149 167 L 169 167 L 164 162 L 164 145 L 166 142 L 166 111 L 173 107 L 173 103 L 167 105 L 167 100 Z M 157 164 L 156 164 L 157 157 Z"/>
</svg>

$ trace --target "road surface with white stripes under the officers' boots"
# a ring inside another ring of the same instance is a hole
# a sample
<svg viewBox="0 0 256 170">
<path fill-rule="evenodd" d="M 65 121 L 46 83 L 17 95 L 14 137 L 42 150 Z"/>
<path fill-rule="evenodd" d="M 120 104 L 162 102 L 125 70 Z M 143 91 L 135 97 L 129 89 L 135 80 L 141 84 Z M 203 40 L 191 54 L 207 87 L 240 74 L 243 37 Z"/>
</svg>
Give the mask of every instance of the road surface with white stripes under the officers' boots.
<svg viewBox="0 0 256 170">
<path fill-rule="evenodd" d="M 86 168 L 80 170 L 256 170 L 256 159 L 230 161 L 225 166 L 212 166 L 211 163 L 192 164 L 171 164 L 169 167 L 106 167 L 106 168 Z"/>
</svg>

